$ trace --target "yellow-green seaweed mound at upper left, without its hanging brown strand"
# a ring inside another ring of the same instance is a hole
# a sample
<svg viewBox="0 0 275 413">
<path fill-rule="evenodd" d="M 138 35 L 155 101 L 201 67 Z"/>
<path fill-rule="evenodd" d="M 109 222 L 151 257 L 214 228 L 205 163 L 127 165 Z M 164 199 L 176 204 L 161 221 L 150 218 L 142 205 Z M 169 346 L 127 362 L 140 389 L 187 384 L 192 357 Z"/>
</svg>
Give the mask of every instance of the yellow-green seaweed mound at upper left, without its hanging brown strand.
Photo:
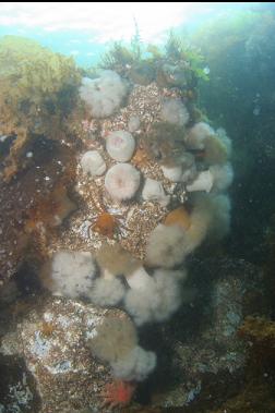
<svg viewBox="0 0 275 413">
<path fill-rule="evenodd" d="M 61 118 L 71 111 L 80 82 L 71 58 L 29 39 L 3 37 L 0 40 L 1 130 L 4 126 L 9 130 L 9 123 L 13 127 L 27 124 L 32 132 L 43 133 L 46 117 L 47 120 L 51 116 Z M 38 122 L 34 121 L 37 116 Z"/>
</svg>

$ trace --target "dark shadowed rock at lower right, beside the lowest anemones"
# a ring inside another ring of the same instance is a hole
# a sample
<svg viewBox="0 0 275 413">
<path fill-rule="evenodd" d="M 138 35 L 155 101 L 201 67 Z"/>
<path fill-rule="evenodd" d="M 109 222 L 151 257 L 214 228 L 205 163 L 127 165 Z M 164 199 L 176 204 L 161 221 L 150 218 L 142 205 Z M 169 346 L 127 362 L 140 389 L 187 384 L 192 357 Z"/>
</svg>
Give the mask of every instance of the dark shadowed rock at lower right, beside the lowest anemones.
<svg viewBox="0 0 275 413">
<path fill-rule="evenodd" d="M 243 378 L 246 347 L 238 329 L 246 314 L 260 309 L 263 274 L 244 260 L 230 258 L 196 262 L 194 271 L 201 283 L 194 302 L 162 332 L 174 355 L 170 375 L 166 369 L 158 372 L 160 382 L 164 375 L 171 390 L 153 396 L 157 408 L 199 405 L 198 411 L 205 411 L 210 398 L 223 400 L 230 386 L 238 386 Z"/>
</svg>

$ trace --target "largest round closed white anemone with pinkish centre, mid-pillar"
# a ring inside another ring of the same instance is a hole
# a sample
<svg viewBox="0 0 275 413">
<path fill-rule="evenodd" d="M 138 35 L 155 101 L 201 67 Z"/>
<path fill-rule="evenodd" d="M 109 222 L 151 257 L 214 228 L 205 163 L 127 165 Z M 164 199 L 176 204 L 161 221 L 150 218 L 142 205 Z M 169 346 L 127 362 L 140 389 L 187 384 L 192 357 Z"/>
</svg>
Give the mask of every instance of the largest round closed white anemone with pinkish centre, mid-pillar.
<svg viewBox="0 0 275 413">
<path fill-rule="evenodd" d="M 105 187 L 115 201 L 131 199 L 140 187 L 140 172 L 129 163 L 111 167 L 105 177 Z"/>
</svg>

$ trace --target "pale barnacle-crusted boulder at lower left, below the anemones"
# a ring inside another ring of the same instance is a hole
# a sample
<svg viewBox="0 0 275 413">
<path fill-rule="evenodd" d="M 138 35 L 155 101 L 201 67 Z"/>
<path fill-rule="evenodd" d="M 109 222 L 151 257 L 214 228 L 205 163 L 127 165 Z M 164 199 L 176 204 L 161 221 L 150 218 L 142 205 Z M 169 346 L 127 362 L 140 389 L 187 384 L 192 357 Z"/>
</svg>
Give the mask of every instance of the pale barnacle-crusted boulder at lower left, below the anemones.
<svg viewBox="0 0 275 413">
<path fill-rule="evenodd" d="M 104 412 L 100 392 L 111 381 L 107 367 L 93 357 L 87 340 L 106 316 L 125 316 L 119 309 L 100 309 L 60 297 L 33 309 L 15 333 L 3 338 L 0 352 L 15 353 L 33 377 L 41 409 L 39 413 L 79 411 L 89 406 Z M 13 342 L 13 344 L 12 344 Z M 14 345 L 14 343 L 22 345 Z M 38 413 L 38 411 L 36 411 Z"/>
</svg>

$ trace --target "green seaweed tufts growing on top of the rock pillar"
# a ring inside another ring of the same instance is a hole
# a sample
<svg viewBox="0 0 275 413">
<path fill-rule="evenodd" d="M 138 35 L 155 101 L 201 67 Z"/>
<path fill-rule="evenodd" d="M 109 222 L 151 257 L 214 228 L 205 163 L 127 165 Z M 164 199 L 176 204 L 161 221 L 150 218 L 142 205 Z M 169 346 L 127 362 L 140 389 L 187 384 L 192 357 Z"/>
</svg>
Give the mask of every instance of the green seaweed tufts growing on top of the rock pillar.
<svg viewBox="0 0 275 413">
<path fill-rule="evenodd" d="M 115 42 L 103 56 L 99 66 L 115 70 L 133 83 L 156 81 L 160 87 L 194 89 L 198 81 L 207 81 L 204 59 L 199 50 L 184 45 L 171 32 L 163 47 L 141 41 L 139 33 L 130 44 Z"/>
</svg>

